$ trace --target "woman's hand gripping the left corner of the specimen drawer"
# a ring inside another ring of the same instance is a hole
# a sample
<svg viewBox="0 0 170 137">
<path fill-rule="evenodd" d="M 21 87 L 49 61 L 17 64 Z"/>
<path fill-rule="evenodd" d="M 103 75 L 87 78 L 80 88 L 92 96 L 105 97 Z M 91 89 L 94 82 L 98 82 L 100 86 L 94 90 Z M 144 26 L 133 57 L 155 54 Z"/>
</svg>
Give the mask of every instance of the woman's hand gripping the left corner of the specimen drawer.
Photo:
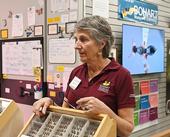
<svg viewBox="0 0 170 137">
<path fill-rule="evenodd" d="M 42 116 L 46 114 L 47 108 L 53 104 L 53 100 L 49 97 L 41 98 L 40 100 L 34 102 L 33 104 L 33 112 L 38 115 Z"/>
</svg>

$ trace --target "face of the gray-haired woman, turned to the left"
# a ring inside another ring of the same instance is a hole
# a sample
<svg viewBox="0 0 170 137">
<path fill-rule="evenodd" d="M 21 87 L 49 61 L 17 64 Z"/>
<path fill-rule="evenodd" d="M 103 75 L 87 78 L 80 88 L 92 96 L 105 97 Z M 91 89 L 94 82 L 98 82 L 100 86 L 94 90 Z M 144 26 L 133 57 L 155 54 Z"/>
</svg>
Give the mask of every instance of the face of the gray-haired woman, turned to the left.
<svg viewBox="0 0 170 137">
<path fill-rule="evenodd" d="M 83 63 L 90 63 L 99 57 L 100 45 L 90 36 L 86 30 L 79 30 L 74 34 L 75 49 L 78 50 L 80 60 Z"/>
</svg>

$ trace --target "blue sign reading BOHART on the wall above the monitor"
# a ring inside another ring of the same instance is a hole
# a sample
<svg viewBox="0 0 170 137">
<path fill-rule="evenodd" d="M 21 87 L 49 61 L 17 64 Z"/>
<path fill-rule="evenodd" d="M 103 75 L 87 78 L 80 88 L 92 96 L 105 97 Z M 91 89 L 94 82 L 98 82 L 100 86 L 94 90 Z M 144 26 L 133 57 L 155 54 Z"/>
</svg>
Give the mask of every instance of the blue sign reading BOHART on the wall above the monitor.
<svg viewBox="0 0 170 137">
<path fill-rule="evenodd" d="M 158 24 L 157 5 L 137 0 L 119 0 L 118 18 L 147 24 Z"/>
</svg>

